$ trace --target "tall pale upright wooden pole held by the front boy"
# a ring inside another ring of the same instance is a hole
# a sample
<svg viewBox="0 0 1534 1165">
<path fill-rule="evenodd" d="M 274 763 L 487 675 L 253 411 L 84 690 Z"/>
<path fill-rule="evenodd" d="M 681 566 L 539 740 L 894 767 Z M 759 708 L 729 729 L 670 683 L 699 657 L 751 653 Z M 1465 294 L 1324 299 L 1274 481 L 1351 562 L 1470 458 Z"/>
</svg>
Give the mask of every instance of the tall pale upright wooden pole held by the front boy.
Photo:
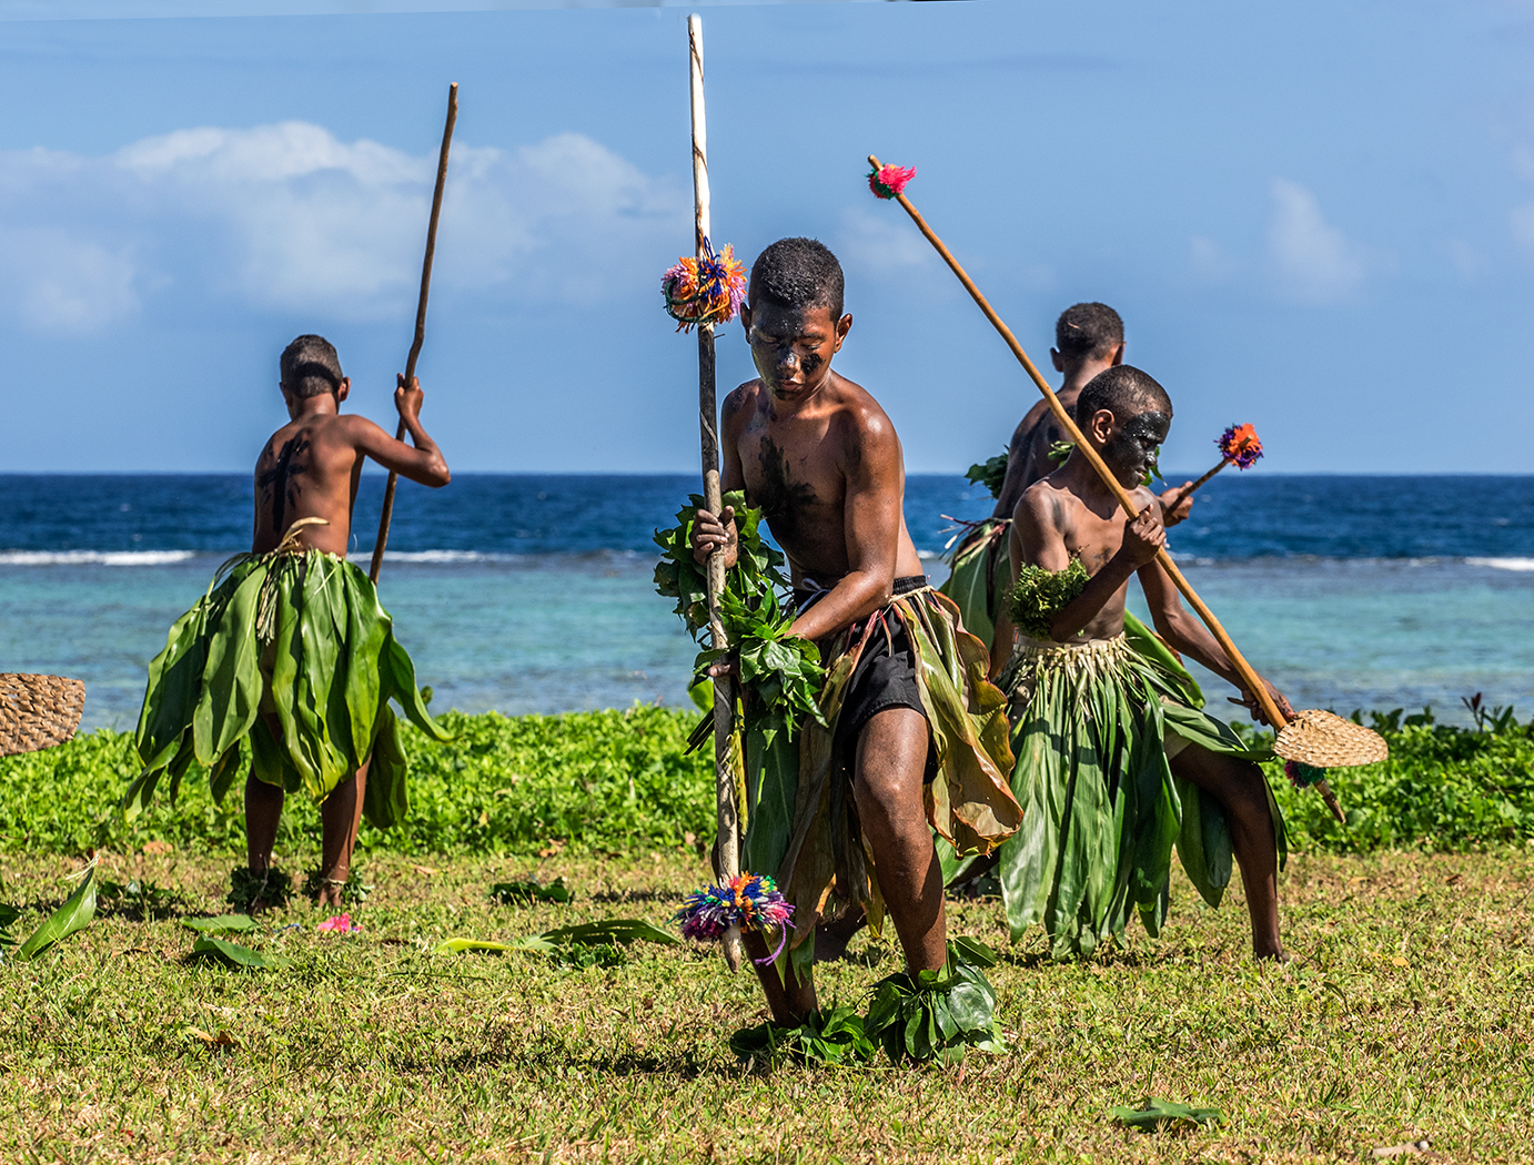
<svg viewBox="0 0 1534 1165">
<path fill-rule="evenodd" d="M 703 109 L 703 18 L 687 17 L 687 58 L 692 78 L 692 210 L 693 247 L 704 258 L 709 238 L 709 133 Z M 698 429 L 703 437 L 703 501 L 718 514 L 724 507 L 719 491 L 719 431 L 713 377 L 713 325 L 698 325 Z M 724 593 L 724 555 L 709 555 L 709 639 L 715 650 L 727 647 L 719 595 Z M 730 762 L 730 730 L 735 714 L 733 684 L 727 676 L 713 681 L 713 783 L 719 817 L 719 878 L 729 881 L 741 872 L 741 819 L 735 803 L 735 765 Z M 730 970 L 741 967 L 741 927 L 724 932 L 724 961 Z"/>
</svg>

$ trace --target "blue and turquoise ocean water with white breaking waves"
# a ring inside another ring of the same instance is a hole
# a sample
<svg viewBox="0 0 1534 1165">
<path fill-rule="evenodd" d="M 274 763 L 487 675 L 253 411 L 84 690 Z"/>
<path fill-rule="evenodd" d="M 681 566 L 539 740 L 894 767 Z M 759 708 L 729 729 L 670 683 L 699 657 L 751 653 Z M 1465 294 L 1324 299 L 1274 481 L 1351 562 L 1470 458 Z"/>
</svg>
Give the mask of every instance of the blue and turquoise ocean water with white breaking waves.
<svg viewBox="0 0 1534 1165">
<path fill-rule="evenodd" d="M 695 489 L 683 475 L 402 483 L 380 593 L 433 707 L 686 704 L 695 647 L 653 593 L 650 535 Z M 170 622 L 249 547 L 250 478 L 0 474 L 0 670 L 77 676 L 87 727 L 132 727 Z M 380 495 L 382 477 L 364 478 L 362 556 Z M 962 477 L 910 478 L 934 581 L 953 518 L 989 509 Z M 1534 714 L 1534 477 L 1223 474 L 1169 541 L 1296 707 L 1430 704 L 1463 720 L 1460 696 L 1480 691 Z"/>
</svg>

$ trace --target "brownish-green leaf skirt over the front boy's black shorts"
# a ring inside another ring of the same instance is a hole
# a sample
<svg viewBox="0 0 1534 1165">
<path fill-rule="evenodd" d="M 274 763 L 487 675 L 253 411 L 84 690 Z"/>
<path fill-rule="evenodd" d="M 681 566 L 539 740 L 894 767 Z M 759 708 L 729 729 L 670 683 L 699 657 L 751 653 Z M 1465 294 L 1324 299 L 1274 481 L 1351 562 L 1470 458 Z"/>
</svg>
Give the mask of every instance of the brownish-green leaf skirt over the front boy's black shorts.
<svg viewBox="0 0 1534 1165">
<path fill-rule="evenodd" d="M 931 731 L 937 774 L 925 786 L 927 817 L 960 854 L 985 854 L 1011 837 L 1022 811 L 1008 785 L 1006 696 L 986 681 L 985 644 L 965 632 L 954 602 L 925 587 L 881 609 L 899 619 L 916 655 L 916 681 Z M 747 828 L 741 863 L 772 874 L 795 906 L 795 934 L 784 958 L 804 972 L 815 960 L 815 924 L 834 895 L 861 901 L 877 930 L 884 900 L 873 877 L 853 803 L 851 773 L 836 763 L 836 724 L 853 671 L 881 619 L 822 645 L 827 665 L 819 693 L 824 724 L 802 717 L 787 731 L 752 733 L 744 742 Z M 807 941 L 808 940 L 808 941 Z"/>
</svg>

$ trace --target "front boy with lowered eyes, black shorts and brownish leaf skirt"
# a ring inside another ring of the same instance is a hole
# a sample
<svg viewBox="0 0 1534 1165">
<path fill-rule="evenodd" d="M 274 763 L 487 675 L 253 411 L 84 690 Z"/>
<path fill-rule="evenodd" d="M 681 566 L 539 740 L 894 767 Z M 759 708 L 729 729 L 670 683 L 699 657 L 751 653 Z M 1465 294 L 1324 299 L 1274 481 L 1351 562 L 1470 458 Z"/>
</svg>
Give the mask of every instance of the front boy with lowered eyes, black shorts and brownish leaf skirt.
<svg viewBox="0 0 1534 1165">
<path fill-rule="evenodd" d="M 756 259 L 741 311 L 761 374 L 724 402 L 724 491 L 744 489 L 788 556 L 790 635 L 821 645 L 825 725 L 750 756 L 756 796 L 742 869 L 773 875 L 793 904 L 778 961 L 761 934 L 747 949 L 779 1024 L 816 1013 L 815 927 L 834 894 L 894 921 L 910 975 L 950 963 L 933 834 L 989 851 L 1017 829 L 1006 774 L 1005 699 L 985 678 L 985 645 L 959 628 L 905 529 L 905 471 L 890 418 L 831 371 L 851 328 L 842 270 L 811 239 L 781 239 Z M 733 507 L 700 509 L 701 563 L 733 567 Z M 759 782 L 759 783 L 758 783 Z M 767 966 L 770 964 L 770 966 Z M 916 981 L 916 980 L 913 980 Z M 989 1016 L 985 1019 L 989 1032 Z"/>
</svg>

